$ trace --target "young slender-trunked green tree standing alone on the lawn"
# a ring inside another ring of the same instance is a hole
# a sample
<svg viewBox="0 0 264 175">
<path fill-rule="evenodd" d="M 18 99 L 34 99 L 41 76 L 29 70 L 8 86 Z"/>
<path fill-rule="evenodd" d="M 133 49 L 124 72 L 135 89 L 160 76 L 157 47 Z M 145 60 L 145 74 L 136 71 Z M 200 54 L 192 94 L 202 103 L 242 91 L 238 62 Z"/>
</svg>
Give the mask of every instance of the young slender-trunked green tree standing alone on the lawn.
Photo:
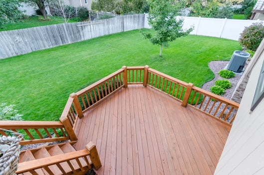
<svg viewBox="0 0 264 175">
<path fill-rule="evenodd" d="M 179 3 L 173 0 L 149 0 L 148 22 L 154 32 L 141 31 L 144 38 L 148 38 L 153 44 L 160 45 L 160 56 L 162 46 L 168 46 L 169 41 L 178 37 L 188 35 L 193 27 L 184 30 L 183 19 L 177 19 L 180 9 Z"/>
</svg>

